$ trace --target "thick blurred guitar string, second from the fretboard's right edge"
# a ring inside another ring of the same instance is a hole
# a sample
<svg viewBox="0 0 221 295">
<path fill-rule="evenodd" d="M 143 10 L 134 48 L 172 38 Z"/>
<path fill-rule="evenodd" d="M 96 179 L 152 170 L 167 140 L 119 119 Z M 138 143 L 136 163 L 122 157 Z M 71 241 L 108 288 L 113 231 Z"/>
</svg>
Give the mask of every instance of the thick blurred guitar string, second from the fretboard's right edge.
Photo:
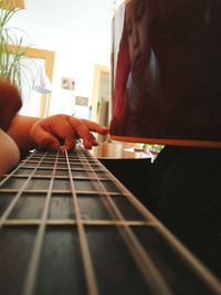
<svg viewBox="0 0 221 295">
<path fill-rule="evenodd" d="M 82 158 L 85 157 L 86 151 L 83 152 L 82 149 L 81 155 Z M 91 156 L 92 157 L 92 156 Z M 83 164 L 84 165 L 84 164 Z M 102 164 L 97 162 L 102 167 Z M 104 167 L 103 167 L 104 168 Z M 93 168 L 90 162 L 86 164 L 85 167 L 86 171 L 90 171 L 93 175 L 93 178 L 97 178 L 96 173 L 94 173 Z M 103 171 L 106 172 L 106 169 L 104 168 Z M 109 197 L 108 191 L 106 190 L 105 186 L 102 183 L 102 181 L 97 178 L 96 182 L 93 181 L 93 185 L 95 189 L 99 187 L 99 191 L 103 191 L 103 196 L 106 197 L 107 203 L 105 202 L 104 204 L 106 206 L 107 210 L 109 211 L 110 215 L 113 218 L 118 218 L 120 221 L 126 221 L 122 212 L 118 210 L 116 204 L 114 203 L 113 199 Z M 103 200 L 103 199 L 102 199 Z M 113 213 L 113 214 L 112 214 Z M 117 226 L 117 225 L 116 225 Z M 168 284 L 165 282 L 164 277 L 155 266 L 155 263 L 151 261 L 150 256 L 148 253 L 145 251 L 131 229 L 128 226 L 128 224 L 124 224 L 123 226 L 117 226 L 119 230 L 122 238 L 129 250 L 130 254 L 133 255 L 137 266 L 139 267 L 144 278 L 146 280 L 145 282 L 148 284 L 148 286 L 151 288 L 152 294 L 165 294 L 165 295 L 171 295 L 172 291 L 168 286 Z"/>
</svg>

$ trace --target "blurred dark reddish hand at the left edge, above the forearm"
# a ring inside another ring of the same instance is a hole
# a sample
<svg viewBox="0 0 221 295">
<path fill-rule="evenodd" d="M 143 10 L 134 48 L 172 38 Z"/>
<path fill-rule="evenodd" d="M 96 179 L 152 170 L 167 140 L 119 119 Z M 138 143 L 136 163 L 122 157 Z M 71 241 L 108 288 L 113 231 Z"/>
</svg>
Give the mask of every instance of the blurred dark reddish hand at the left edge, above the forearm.
<svg viewBox="0 0 221 295">
<path fill-rule="evenodd" d="M 12 118 L 21 107 L 21 96 L 17 87 L 9 82 L 0 81 L 0 128 L 7 130 Z"/>
</svg>

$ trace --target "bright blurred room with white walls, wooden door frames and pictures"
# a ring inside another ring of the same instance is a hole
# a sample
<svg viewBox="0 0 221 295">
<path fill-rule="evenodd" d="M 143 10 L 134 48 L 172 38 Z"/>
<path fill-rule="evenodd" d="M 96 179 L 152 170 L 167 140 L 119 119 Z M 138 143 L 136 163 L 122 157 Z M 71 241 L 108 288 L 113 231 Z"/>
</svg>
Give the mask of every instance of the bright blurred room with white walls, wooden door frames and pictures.
<svg viewBox="0 0 221 295">
<path fill-rule="evenodd" d="M 29 88 L 31 85 L 31 91 L 23 91 L 21 114 L 45 117 L 64 113 L 106 122 L 110 28 L 120 2 L 23 2 L 24 9 L 17 11 L 7 24 L 15 39 L 21 38 L 22 46 L 34 49 L 33 54 L 22 61 L 25 72 L 22 84 Z"/>
</svg>

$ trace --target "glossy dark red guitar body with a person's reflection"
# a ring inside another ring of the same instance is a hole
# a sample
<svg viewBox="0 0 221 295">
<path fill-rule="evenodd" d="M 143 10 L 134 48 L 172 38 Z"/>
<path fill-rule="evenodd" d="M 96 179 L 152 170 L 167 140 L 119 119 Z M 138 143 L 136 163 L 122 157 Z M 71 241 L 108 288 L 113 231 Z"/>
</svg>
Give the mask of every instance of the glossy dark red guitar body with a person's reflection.
<svg viewBox="0 0 221 295">
<path fill-rule="evenodd" d="M 113 54 L 113 134 L 221 139 L 219 6 L 133 0 L 122 7 L 124 18 L 116 23 L 124 22 L 123 32 Z"/>
</svg>

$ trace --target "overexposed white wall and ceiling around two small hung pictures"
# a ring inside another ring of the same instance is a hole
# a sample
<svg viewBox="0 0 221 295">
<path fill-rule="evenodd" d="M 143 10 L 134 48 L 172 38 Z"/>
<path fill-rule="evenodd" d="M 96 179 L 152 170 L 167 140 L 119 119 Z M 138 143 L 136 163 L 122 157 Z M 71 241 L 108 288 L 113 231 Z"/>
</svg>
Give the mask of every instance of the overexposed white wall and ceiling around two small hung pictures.
<svg viewBox="0 0 221 295">
<path fill-rule="evenodd" d="M 27 9 L 11 21 L 28 33 L 27 44 L 55 52 L 50 115 L 88 116 L 74 98 L 86 96 L 91 104 L 94 66 L 109 66 L 112 17 L 112 0 L 27 0 Z M 62 76 L 75 80 L 74 92 L 61 88 Z"/>
</svg>

